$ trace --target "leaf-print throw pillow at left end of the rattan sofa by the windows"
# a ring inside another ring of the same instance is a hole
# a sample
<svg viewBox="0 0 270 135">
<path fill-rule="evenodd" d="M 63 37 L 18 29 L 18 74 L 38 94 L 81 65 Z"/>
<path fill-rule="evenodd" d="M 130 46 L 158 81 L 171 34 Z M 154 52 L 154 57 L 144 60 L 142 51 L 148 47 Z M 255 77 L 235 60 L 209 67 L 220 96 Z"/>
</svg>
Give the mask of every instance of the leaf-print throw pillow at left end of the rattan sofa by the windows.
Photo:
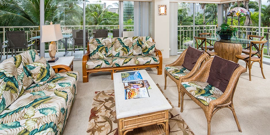
<svg viewBox="0 0 270 135">
<path fill-rule="evenodd" d="M 106 58 L 105 44 L 89 44 L 89 59 L 103 59 Z"/>
</svg>

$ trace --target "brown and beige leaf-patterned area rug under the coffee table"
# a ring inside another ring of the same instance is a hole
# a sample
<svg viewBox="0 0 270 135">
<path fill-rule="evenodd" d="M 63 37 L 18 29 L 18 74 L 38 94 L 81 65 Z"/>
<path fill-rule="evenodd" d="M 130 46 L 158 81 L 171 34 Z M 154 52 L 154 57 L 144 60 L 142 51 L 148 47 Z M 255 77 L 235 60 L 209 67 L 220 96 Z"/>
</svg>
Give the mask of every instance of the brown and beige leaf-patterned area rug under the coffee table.
<svg viewBox="0 0 270 135">
<path fill-rule="evenodd" d="M 157 86 L 159 87 L 158 84 Z M 161 92 L 163 93 L 162 90 Z M 169 101 L 167 97 L 166 99 Z M 170 101 L 169 103 L 171 104 Z M 114 90 L 94 92 L 86 130 L 86 135 L 89 134 L 118 135 Z M 169 110 L 169 134 L 194 135 L 173 105 Z"/>
</svg>

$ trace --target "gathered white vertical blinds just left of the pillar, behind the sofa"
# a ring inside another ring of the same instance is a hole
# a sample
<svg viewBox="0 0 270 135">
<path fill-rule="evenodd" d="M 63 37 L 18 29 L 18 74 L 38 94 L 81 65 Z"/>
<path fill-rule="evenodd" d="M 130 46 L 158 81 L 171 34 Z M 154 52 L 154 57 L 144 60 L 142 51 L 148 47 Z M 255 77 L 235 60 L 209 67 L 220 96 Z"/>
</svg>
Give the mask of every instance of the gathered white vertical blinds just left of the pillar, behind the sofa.
<svg viewBox="0 0 270 135">
<path fill-rule="evenodd" d="M 134 1 L 134 36 L 149 36 L 150 3 Z"/>
</svg>

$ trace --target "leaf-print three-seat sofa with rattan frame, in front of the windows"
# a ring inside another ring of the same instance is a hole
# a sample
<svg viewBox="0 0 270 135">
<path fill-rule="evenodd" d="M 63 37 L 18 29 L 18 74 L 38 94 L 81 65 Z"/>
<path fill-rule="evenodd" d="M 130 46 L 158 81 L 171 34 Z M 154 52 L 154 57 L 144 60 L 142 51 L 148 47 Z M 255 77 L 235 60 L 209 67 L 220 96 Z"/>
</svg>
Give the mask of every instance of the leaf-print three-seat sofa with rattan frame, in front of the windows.
<svg viewBox="0 0 270 135">
<path fill-rule="evenodd" d="M 92 38 L 82 59 L 83 82 L 98 71 L 155 67 L 162 74 L 162 54 L 150 36 Z"/>
</svg>

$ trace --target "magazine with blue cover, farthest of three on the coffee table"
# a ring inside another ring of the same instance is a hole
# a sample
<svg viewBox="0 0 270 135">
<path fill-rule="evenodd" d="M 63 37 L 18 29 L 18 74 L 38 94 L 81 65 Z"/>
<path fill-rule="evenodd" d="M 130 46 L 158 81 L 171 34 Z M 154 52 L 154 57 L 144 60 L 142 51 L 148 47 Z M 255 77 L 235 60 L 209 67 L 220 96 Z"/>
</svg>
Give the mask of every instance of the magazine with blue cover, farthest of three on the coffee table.
<svg viewBox="0 0 270 135">
<path fill-rule="evenodd" d="M 139 71 L 121 73 L 122 82 L 131 82 L 142 80 L 142 76 Z"/>
</svg>

